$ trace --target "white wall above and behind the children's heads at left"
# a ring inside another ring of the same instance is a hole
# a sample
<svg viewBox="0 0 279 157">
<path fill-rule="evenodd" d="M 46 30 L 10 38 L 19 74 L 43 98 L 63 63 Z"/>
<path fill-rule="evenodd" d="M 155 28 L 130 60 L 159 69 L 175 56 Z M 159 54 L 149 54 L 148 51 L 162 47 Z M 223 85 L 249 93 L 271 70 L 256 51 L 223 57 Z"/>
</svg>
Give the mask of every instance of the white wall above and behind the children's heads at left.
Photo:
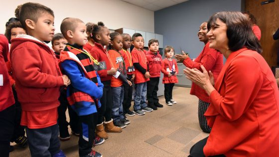
<svg viewBox="0 0 279 157">
<path fill-rule="evenodd" d="M 54 11 L 55 33 L 65 17 L 77 17 L 85 23 L 103 21 L 110 29 L 131 28 L 154 32 L 154 12 L 121 0 L 0 0 L 0 33 L 14 17 L 14 9 L 25 2 L 38 2 Z"/>
</svg>

